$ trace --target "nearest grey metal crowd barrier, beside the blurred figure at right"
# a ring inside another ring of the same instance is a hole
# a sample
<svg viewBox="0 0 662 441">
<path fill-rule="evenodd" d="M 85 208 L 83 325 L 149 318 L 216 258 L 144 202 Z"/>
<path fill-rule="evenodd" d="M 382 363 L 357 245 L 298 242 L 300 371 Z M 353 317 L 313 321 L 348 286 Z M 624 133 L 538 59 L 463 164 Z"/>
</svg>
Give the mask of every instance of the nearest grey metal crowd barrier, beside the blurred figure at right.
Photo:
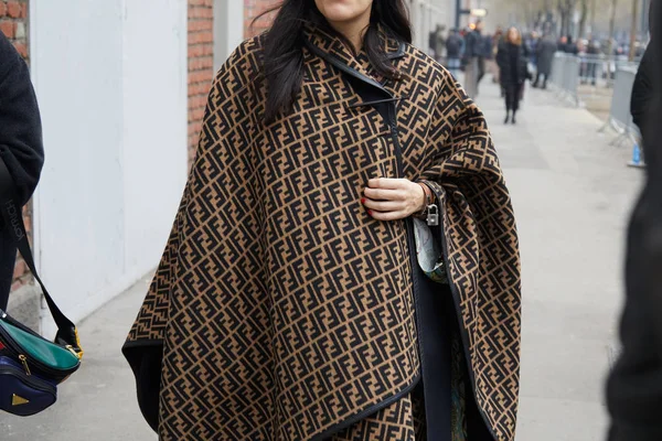
<svg viewBox="0 0 662 441">
<path fill-rule="evenodd" d="M 612 143 L 628 138 L 634 140 L 638 137 L 639 129 L 634 126 L 630 114 L 630 100 L 636 76 L 637 68 L 631 66 L 621 66 L 616 71 L 609 119 L 599 130 L 601 132 L 607 128 L 616 130 L 619 137 Z"/>
</svg>

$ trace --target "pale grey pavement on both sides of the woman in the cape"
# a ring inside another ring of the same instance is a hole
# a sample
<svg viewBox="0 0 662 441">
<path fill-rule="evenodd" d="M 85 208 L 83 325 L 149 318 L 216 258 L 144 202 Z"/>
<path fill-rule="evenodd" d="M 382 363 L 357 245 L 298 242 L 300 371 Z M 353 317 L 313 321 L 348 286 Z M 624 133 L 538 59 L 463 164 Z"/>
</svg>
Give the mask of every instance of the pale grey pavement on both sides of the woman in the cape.
<svg viewBox="0 0 662 441">
<path fill-rule="evenodd" d="M 523 258 L 522 394 L 517 441 L 602 441 L 604 381 L 617 351 L 627 217 L 642 172 L 609 146 L 601 121 L 528 89 L 516 126 L 499 88 L 477 101 L 512 193 Z M 83 368 L 47 411 L 0 415 L 3 441 L 148 441 L 132 374 L 120 353 L 145 279 L 81 323 Z M 182 440 L 184 441 L 184 440 Z M 391 441 L 391 440 L 389 440 Z"/>
</svg>

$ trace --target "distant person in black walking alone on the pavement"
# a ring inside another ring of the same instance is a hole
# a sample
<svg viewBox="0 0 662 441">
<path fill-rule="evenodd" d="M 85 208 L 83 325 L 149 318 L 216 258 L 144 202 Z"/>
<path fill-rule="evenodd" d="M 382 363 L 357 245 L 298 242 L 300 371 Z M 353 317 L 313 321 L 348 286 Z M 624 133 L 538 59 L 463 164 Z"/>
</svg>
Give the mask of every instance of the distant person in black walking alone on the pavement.
<svg viewBox="0 0 662 441">
<path fill-rule="evenodd" d="M 531 77 L 526 54 L 522 46 L 522 35 L 516 28 L 508 30 L 505 44 L 499 49 L 496 58 L 501 72 L 501 87 L 505 92 L 505 120 L 503 122 L 516 123 L 515 116 L 524 93 L 524 82 Z"/>
</svg>

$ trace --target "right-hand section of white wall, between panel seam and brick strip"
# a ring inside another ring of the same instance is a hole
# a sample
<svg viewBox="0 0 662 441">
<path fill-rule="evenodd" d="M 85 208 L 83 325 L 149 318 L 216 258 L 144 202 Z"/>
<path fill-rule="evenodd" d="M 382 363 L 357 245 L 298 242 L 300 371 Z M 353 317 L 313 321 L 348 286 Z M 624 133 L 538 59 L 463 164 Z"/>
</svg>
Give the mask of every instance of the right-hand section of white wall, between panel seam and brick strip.
<svg viewBox="0 0 662 441">
<path fill-rule="evenodd" d="M 153 268 L 186 173 L 185 1 L 127 0 L 124 20 L 125 273 Z"/>
</svg>

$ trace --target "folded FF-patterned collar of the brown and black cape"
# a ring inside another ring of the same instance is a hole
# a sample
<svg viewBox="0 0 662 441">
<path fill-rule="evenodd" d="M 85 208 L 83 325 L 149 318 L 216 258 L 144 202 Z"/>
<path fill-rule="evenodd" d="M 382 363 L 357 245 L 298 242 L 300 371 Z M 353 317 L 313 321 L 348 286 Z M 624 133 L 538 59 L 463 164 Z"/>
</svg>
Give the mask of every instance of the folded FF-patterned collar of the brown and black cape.
<svg viewBox="0 0 662 441">
<path fill-rule="evenodd" d="M 405 43 L 391 36 L 381 25 L 378 25 L 378 33 L 387 58 L 396 60 L 405 55 Z M 364 51 L 354 55 L 342 40 L 312 23 L 306 23 L 303 37 L 309 49 L 317 55 L 331 62 L 345 73 L 354 76 L 359 74 L 361 79 L 381 87 L 380 78 L 375 76 Z"/>
</svg>

